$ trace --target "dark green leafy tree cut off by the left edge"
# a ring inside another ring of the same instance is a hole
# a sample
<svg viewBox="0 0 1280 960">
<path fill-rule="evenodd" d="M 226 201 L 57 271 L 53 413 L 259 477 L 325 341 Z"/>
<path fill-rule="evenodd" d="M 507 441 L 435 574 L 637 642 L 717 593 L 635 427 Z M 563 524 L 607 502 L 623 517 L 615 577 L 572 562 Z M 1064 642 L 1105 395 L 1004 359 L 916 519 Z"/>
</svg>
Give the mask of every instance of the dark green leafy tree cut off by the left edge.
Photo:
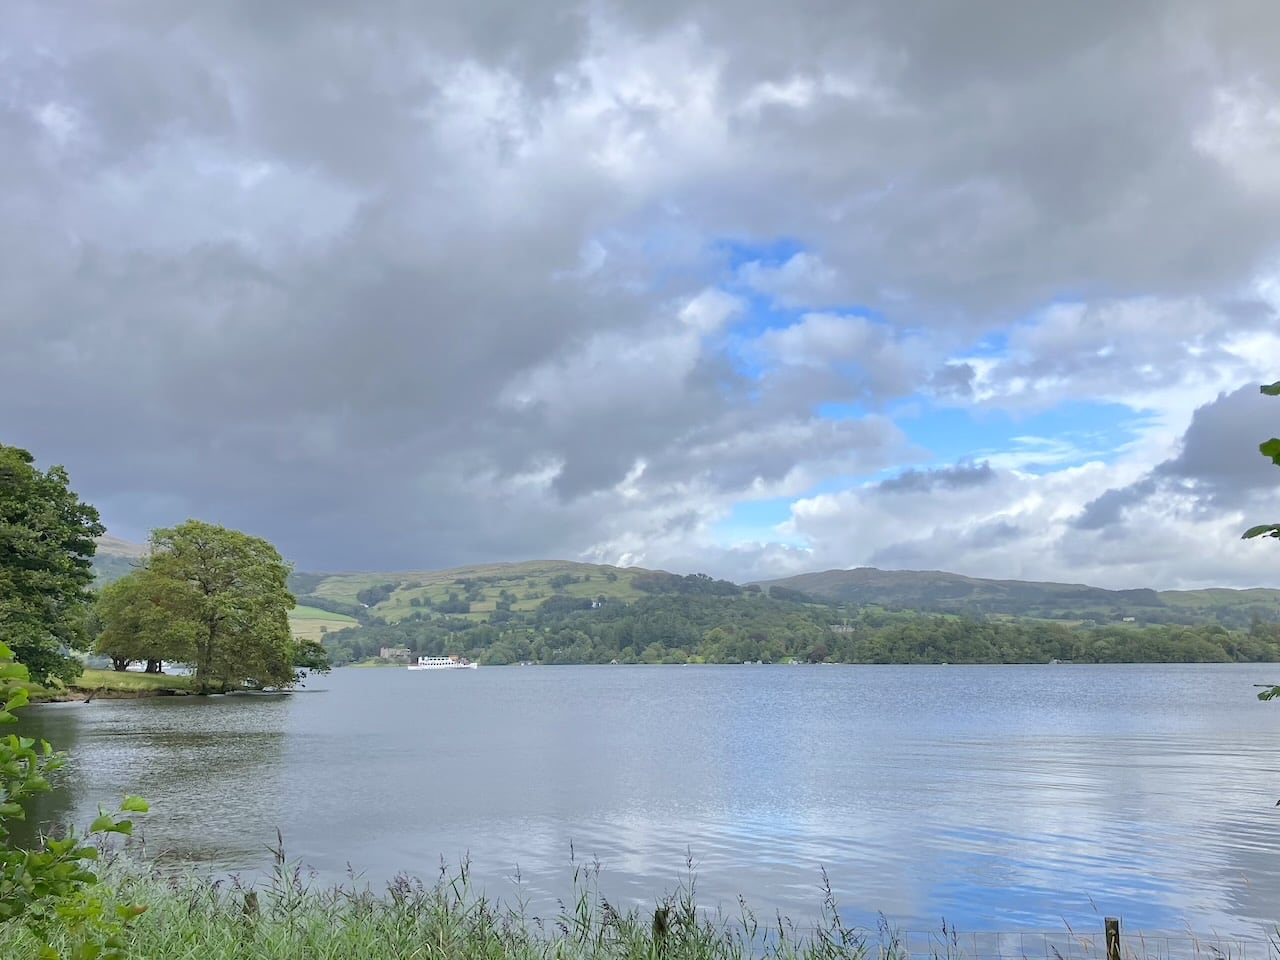
<svg viewBox="0 0 1280 960">
<path fill-rule="evenodd" d="M 63 650 L 84 643 L 93 538 L 104 532 L 63 467 L 41 471 L 27 451 L 0 444 L 0 641 L 33 680 L 79 676 Z"/>
</svg>

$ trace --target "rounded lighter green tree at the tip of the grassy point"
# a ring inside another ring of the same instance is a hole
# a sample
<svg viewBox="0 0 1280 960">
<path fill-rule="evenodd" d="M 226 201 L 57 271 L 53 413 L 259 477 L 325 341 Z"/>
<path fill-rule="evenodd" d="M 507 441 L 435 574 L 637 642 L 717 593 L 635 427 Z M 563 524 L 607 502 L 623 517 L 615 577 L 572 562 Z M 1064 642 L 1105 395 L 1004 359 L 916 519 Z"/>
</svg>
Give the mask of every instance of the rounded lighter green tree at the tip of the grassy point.
<svg viewBox="0 0 1280 960">
<path fill-rule="evenodd" d="M 289 571 L 266 540 L 188 520 L 152 531 L 150 591 L 136 593 L 146 603 L 159 598 L 175 637 L 189 636 L 200 689 L 292 686 L 296 664 L 325 664 L 289 631 Z M 115 626 L 104 618 L 106 631 Z"/>
</svg>

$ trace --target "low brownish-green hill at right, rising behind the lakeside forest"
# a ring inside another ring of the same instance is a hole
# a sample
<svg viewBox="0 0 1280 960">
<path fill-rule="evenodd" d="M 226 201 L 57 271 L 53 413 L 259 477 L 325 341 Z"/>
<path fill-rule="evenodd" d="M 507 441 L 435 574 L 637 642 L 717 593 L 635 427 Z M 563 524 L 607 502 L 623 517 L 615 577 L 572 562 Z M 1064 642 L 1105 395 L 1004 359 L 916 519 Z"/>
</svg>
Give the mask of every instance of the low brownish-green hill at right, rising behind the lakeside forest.
<svg viewBox="0 0 1280 960">
<path fill-rule="evenodd" d="M 937 570 L 828 570 L 762 588 L 799 590 L 817 600 L 970 616 L 1137 623 L 1221 623 L 1247 627 L 1280 620 L 1280 590 L 1106 590 L 1085 584 L 983 580 Z"/>
</svg>

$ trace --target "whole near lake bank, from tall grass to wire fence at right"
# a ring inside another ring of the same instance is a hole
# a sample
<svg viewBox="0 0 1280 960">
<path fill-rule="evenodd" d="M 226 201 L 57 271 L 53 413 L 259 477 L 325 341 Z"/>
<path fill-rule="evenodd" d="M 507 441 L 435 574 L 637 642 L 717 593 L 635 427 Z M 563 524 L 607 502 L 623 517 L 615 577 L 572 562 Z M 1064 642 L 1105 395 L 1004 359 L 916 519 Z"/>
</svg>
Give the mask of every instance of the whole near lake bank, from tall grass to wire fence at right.
<svg viewBox="0 0 1280 960">
<path fill-rule="evenodd" d="M 1060 924 L 1036 933 L 972 933 L 946 922 L 909 931 L 881 918 L 872 927 L 842 920 L 828 887 L 815 891 L 812 922 L 758 914 L 739 902 L 709 910 L 690 886 L 643 906 L 611 902 L 594 868 L 580 869 L 572 893 L 536 914 L 518 902 L 497 902 L 475 890 L 465 872 L 430 884 L 397 877 L 375 890 L 358 879 L 317 886 L 285 860 L 256 886 L 195 873 L 155 870 L 108 852 L 95 893 L 109 911 L 136 913 L 124 931 L 128 956 L 148 960 L 916 960 L 1011 957 L 1062 960 L 1107 956 L 1100 920 L 1091 929 Z M 54 928 L 51 942 L 72 954 Z M 1258 941 L 1180 933 L 1174 938 L 1129 936 L 1126 960 L 1171 956 L 1265 956 Z M 0 956 L 36 956 L 20 924 L 0 924 Z"/>
</svg>

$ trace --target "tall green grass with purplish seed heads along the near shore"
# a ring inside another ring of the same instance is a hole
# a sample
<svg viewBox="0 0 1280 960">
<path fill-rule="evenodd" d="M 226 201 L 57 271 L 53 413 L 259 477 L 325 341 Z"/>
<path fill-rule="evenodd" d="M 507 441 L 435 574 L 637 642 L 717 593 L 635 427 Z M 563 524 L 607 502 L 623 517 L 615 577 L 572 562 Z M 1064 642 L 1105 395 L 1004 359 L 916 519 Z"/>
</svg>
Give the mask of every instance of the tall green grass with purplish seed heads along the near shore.
<svg viewBox="0 0 1280 960">
<path fill-rule="evenodd" d="M 398 877 L 375 893 L 355 879 L 312 887 L 279 850 L 259 888 L 111 855 L 101 864 L 108 910 L 147 908 L 129 927 L 127 955 L 148 960 L 908 960 L 887 929 L 872 945 L 844 927 L 829 890 L 820 925 L 804 933 L 782 918 L 762 928 L 745 906 L 709 915 L 691 881 L 655 906 L 621 910 L 602 896 L 598 867 L 576 867 L 573 899 L 534 916 L 476 892 L 465 865 L 433 884 Z M 70 952 L 65 938 L 54 946 Z M 0 924 L 0 956 L 35 955 L 28 933 Z"/>
</svg>

